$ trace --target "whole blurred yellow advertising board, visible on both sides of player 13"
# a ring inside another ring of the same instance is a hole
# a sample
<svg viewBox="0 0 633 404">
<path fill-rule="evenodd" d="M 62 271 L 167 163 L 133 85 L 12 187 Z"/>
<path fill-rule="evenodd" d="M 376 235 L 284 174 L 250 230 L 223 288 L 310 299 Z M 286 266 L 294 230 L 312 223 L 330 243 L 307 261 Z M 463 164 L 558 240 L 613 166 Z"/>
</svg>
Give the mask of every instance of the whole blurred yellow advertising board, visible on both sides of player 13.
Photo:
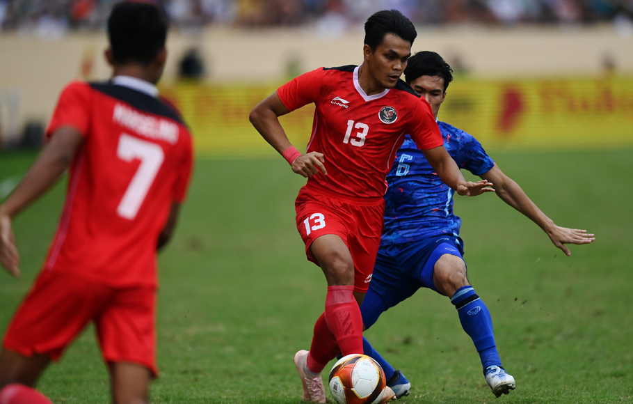
<svg viewBox="0 0 633 404">
<path fill-rule="evenodd" d="M 275 84 L 178 83 L 161 92 L 182 111 L 199 155 L 275 155 L 248 121 Z M 302 150 L 310 139 L 314 107 L 280 121 Z M 633 146 L 633 77 L 481 80 L 458 77 L 440 109 L 445 121 L 485 148 Z"/>
</svg>

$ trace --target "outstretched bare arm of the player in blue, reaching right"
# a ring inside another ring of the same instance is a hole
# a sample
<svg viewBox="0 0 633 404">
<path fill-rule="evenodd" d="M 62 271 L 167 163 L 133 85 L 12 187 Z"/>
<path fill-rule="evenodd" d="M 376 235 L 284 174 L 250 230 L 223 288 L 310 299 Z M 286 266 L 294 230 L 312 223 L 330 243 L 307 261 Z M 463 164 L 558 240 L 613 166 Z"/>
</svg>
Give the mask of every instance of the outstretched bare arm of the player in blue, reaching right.
<svg viewBox="0 0 633 404">
<path fill-rule="evenodd" d="M 495 184 L 497 195 L 508 205 L 521 212 L 532 222 L 538 224 L 547 233 L 552 243 L 561 249 L 567 256 L 571 252 L 565 244 L 588 244 L 595 240 L 592 233 L 577 228 L 566 228 L 557 226 L 552 219 L 543 213 L 536 203 L 531 201 L 523 189 L 512 178 L 506 176 L 504 172 L 495 164 L 490 171 L 483 173 L 481 178 L 486 178 Z"/>
</svg>

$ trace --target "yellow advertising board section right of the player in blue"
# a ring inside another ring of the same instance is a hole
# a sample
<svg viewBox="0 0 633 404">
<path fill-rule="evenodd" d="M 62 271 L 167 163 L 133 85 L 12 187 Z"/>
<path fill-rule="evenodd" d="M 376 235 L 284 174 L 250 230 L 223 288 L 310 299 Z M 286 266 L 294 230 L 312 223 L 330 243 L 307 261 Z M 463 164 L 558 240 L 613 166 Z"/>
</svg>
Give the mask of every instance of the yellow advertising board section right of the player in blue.
<svg viewBox="0 0 633 404">
<path fill-rule="evenodd" d="M 451 84 L 441 121 L 489 148 L 633 145 L 633 77 Z"/>
</svg>

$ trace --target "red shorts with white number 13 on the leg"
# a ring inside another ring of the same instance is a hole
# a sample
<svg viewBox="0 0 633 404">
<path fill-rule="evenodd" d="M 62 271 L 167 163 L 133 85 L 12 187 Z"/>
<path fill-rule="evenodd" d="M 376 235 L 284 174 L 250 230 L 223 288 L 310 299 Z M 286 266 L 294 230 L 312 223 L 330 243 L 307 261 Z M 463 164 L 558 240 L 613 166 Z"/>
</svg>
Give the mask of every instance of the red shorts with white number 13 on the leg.
<svg viewBox="0 0 633 404">
<path fill-rule="evenodd" d="M 319 265 L 310 245 L 321 235 L 338 235 L 354 261 L 354 290 L 367 292 L 383 231 L 384 199 L 341 199 L 302 188 L 295 209 L 297 229 L 305 243 L 307 259 Z"/>
</svg>

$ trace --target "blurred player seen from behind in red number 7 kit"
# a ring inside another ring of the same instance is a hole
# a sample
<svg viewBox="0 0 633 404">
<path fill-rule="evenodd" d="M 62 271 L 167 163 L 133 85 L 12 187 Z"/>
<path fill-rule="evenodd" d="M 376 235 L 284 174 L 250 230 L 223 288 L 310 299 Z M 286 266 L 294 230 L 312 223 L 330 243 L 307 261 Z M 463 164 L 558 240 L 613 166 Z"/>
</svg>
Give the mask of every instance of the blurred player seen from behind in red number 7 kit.
<svg viewBox="0 0 633 404">
<path fill-rule="evenodd" d="M 168 20 L 150 2 L 108 20 L 113 77 L 61 93 L 48 142 L 0 205 L 0 262 L 19 277 L 11 219 L 70 167 L 42 272 L 0 352 L 0 403 L 49 403 L 33 390 L 51 359 L 93 322 L 114 403 L 147 403 L 156 366 L 157 250 L 170 239 L 192 168 L 191 134 L 159 98 Z"/>
</svg>

